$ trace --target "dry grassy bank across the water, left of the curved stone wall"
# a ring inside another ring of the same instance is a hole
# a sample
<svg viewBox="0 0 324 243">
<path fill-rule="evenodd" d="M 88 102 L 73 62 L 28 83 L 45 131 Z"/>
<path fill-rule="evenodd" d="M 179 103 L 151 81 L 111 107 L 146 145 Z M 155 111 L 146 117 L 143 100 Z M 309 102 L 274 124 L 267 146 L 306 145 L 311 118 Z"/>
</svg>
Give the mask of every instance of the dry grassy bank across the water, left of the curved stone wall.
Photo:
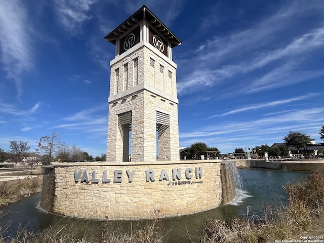
<svg viewBox="0 0 324 243">
<path fill-rule="evenodd" d="M 0 183 L 0 208 L 21 198 L 41 192 L 43 176 Z"/>
</svg>

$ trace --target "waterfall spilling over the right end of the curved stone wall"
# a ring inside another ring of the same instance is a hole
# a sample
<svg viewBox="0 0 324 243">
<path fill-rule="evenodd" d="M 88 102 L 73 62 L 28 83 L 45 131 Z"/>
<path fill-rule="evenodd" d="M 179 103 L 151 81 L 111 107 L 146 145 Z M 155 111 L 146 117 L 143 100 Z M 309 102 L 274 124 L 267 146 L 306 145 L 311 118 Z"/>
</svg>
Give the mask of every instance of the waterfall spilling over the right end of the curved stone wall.
<svg viewBox="0 0 324 243">
<path fill-rule="evenodd" d="M 242 196 L 246 195 L 243 188 L 242 179 L 238 174 L 237 167 L 233 161 L 222 161 L 221 163 L 222 181 L 222 204 L 237 205 Z"/>
</svg>

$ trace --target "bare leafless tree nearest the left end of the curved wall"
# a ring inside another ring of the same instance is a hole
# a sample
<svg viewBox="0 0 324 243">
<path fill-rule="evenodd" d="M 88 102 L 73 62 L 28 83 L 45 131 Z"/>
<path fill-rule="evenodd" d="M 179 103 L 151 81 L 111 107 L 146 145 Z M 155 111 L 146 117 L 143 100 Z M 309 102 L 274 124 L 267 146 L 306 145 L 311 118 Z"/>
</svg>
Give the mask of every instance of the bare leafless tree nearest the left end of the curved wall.
<svg viewBox="0 0 324 243">
<path fill-rule="evenodd" d="M 38 146 L 36 151 L 46 155 L 46 164 L 48 165 L 51 164 L 52 160 L 54 159 L 54 154 L 59 152 L 63 144 L 59 140 L 59 135 L 57 135 L 56 132 L 53 132 L 48 136 L 41 137 L 37 143 Z"/>
</svg>

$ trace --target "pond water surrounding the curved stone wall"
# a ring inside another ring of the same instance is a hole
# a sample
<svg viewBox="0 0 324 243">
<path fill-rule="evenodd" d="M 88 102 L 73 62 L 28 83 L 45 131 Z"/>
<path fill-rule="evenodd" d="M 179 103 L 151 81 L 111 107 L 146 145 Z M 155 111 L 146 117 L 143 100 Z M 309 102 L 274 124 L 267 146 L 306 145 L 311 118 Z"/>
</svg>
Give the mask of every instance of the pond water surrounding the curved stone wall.
<svg viewBox="0 0 324 243">
<path fill-rule="evenodd" d="M 206 222 L 210 219 L 228 220 L 233 217 L 246 217 L 248 206 L 250 206 L 250 216 L 253 214 L 262 216 L 264 204 L 287 205 L 288 198 L 282 186 L 288 182 L 297 182 L 309 175 L 309 172 L 276 170 L 236 169 L 234 173 L 239 174 L 241 181 L 234 182 L 236 196 L 229 204 L 203 213 L 162 220 L 163 227 L 166 228 L 166 231 L 170 231 L 168 242 L 191 242 L 190 238 L 197 241 L 196 237 L 201 235 Z M 76 220 L 43 211 L 39 207 L 40 200 L 41 195 L 35 195 L 0 209 L 4 215 L 0 219 L 0 226 L 5 227 L 10 224 L 7 236 L 16 235 L 19 222 L 22 222 L 22 226 L 27 225 L 29 231 L 37 231 L 37 228 L 45 228 L 50 224 Z M 131 223 L 124 222 L 123 224 L 128 227 Z"/>
</svg>

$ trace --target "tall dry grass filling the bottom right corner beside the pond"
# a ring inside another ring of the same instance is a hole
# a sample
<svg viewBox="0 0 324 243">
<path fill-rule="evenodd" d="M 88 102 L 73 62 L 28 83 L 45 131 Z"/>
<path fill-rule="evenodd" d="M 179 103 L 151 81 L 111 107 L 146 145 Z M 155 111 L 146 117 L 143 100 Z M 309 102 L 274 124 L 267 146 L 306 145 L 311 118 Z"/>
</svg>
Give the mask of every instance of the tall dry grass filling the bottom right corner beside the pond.
<svg viewBox="0 0 324 243">
<path fill-rule="evenodd" d="M 213 220 L 200 242 L 273 242 L 293 239 L 311 229 L 324 207 L 324 174 L 316 172 L 297 184 L 284 189 L 289 206 L 267 206 L 263 218 L 234 219 L 231 223 Z"/>
</svg>

